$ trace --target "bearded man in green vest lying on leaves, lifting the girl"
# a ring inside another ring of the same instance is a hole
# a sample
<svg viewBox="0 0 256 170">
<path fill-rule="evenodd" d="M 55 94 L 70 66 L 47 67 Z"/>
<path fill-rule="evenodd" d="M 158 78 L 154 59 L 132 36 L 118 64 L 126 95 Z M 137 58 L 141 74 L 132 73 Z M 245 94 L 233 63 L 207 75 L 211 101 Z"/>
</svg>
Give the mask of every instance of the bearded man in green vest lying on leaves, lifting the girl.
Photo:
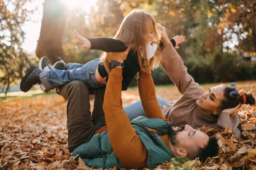
<svg viewBox="0 0 256 170">
<path fill-rule="evenodd" d="M 113 54 L 123 62 L 128 50 Z M 148 83 L 151 82 L 151 83 Z M 105 91 L 96 90 L 90 114 L 89 89 L 83 82 L 70 82 L 60 93 L 67 93 L 67 128 L 69 150 L 79 154 L 87 166 L 95 168 L 154 168 L 174 157 L 205 160 L 215 156 L 217 140 L 189 125 L 174 128 L 164 118 L 155 97 L 150 71 L 140 71 L 138 87 L 146 117 L 129 121 L 122 107 L 122 67 L 111 70 Z M 107 126 L 105 125 L 105 122 Z M 107 128 L 108 127 L 108 128 Z M 82 144 L 82 145 L 81 145 Z"/>
</svg>

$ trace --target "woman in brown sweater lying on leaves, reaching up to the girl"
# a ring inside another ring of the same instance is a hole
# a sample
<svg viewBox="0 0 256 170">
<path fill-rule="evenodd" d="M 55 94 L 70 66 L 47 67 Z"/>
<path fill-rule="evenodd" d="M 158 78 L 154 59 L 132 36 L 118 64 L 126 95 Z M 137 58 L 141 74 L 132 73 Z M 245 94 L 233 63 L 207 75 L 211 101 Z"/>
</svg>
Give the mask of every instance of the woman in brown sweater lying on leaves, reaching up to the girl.
<svg viewBox="0 0 256 170">
<path fill-rule="evenodd" d="M 169 42 L 163 26 L 161 26 L 161 39 Z M 233 113 L 239 110 L 241 104 L 255 104 L 251 94 L 238 93 L 235 84 L 221 84 L 205 92 L 188 74 L 187 67 L 184 66 L 182 58 L 171 43 L 168 43 L 168 47 L 162 51 L 161 65 L 182 94 L 182 97 L 174 103 L 158 99 L 166 119 L 177 126 L 188 124 L 193 128 L 202 125 L 208 127 L 218 125 L 226 128 L 229 125 L 233 133 L 241 137 L 241 132 L 237 128 L 240 121 L 238 115 Z M 141 102 L 126 107 L 125 112 L 130 120 L 145 115 Z"/>
</svg>

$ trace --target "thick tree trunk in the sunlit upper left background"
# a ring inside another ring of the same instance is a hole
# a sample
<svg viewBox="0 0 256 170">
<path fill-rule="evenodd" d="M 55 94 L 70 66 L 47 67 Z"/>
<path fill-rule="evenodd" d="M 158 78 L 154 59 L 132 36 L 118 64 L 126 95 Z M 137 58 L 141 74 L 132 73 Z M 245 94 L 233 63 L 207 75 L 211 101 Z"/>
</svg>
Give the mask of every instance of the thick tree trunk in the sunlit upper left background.
<svg viewBox="0 0 256 170">
<path fill-rule="evenodd" d="M 67 10 L 60 0 L 45 0 L 36 55 L 39 58 L 48 57 L 51 64 L 56 57 L 65 59 L 62 49 L 62 35 L 65 28 L 66 12 Z"/>
</svg>

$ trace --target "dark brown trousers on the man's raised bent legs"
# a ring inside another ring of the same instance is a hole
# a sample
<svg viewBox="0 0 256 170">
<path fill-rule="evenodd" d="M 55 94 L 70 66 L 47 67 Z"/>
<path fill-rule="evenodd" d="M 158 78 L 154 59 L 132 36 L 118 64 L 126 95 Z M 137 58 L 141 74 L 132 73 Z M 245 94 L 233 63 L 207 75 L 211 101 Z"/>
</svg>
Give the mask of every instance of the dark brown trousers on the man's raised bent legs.
<svg viewBox="0 0 256 170">
<path fill-rule="evenodd" d="M 105 87 L 89 89 L 84 82 L 72 81 L 59 92 L 67 103 L 69 151 L 87 143 L 95 131 L 106 125 L 103 111 Z M 90 94 L 95 95 L 94 109 L 90 111 Z"/>
</svg>

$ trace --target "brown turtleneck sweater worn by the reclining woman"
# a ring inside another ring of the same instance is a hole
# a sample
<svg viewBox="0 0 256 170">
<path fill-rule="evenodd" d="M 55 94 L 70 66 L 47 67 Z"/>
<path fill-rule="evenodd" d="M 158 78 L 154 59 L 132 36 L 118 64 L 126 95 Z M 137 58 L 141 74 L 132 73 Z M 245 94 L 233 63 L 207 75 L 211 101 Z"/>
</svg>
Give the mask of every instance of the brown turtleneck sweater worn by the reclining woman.
<svg viewBox="0 0 256 170">
<path fill-rule="evenodd" d="M 240 123 L 238 115 L 230 117 L 225 112 L 221 112 L 219 116 L 209 115 L 196 104 L 205 90 L 188 74 L 187 67 L 184 66 L 182 58 L 171 43 L 162 51 L 161 65 L 182 94 L 175 103 L 164 106 L 163 113 L 166 119 L 177 126 L 188 124 L 193 128 L 202 125 L 214 127 L 217 124 L 226 128 L 229 125 L 233 133 L 241 137 L 241 132 L 237 128 Z"/>
</svg>

